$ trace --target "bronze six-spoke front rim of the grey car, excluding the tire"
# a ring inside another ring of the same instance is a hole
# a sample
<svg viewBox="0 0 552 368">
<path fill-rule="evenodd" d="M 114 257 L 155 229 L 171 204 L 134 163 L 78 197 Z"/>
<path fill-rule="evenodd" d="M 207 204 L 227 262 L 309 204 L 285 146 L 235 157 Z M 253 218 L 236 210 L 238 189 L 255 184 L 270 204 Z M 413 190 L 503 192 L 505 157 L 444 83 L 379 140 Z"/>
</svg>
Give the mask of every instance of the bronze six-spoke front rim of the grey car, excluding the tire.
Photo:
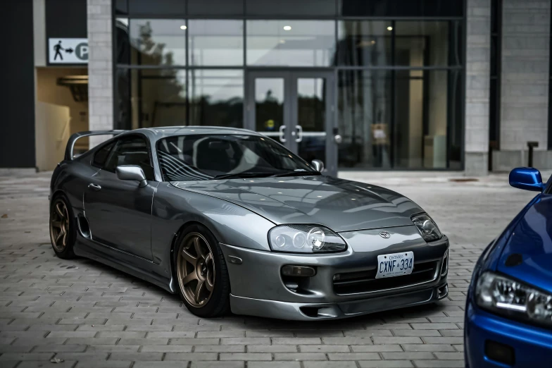
<svg viewBox="0 0 552 368">
<path fill-rule="evenodd" d="M 214 246 L 214 245 L 213 245 Z M 200 233 L 188 233 L 177 254 L 178 285 L 192 307 L 207 304 L 215 287 L 215 262 L 208 240 Z"/>
</svg>

